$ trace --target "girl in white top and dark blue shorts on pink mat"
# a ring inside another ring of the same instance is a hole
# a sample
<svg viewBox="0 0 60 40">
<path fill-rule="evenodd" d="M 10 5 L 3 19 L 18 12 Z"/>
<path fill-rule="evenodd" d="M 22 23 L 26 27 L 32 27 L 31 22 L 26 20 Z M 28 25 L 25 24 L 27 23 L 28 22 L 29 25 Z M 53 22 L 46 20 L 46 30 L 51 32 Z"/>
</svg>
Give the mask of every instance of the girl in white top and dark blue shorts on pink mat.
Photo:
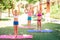
<svg viewBox="0 0 60 40">
<path fill-rule="evenodd" d="M 14 25 L 14 35 L 15 37 L 17 37 L 17 34 L 18 34 L 18 15 L 19 15 L 19 12 L 17 12 L 17 10 L 14 10 L 13 12 L 13 16 L 14 16 L 14 22 L 13 22 L 13 25 Z"/>
</svg>

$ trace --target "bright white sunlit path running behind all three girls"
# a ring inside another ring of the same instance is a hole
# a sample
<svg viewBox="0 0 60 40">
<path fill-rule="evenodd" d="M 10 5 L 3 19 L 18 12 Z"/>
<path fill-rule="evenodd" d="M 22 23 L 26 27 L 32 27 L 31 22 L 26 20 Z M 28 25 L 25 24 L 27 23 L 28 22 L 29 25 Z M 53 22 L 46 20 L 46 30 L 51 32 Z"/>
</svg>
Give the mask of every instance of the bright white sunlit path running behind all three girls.
<svg viewBox="0 0 60 40">
<path fill-rule="evenodd" d="M 21 24 L 27 24 L 27 17 L 28 17 L 27 14 L 19 15 L 19 17 L 18 17 L 19 18 L 19 26 L 22 26 Z M 13 26 L 13 17 L 7 17 L 7 15 L 4 14 L 4 16 L 2 18 L 9 18 L 11 20 L 0 21 L 0 27 Z M 51 18 L 51 22 L 60 24 L 60 20 L 58 20 L 58 19 Z M 46 22 L 42 22 L 42 23 L 46 23 Z M 32 24 L 36 24 L 36 21 L 32 21 Z"/>
</svg>

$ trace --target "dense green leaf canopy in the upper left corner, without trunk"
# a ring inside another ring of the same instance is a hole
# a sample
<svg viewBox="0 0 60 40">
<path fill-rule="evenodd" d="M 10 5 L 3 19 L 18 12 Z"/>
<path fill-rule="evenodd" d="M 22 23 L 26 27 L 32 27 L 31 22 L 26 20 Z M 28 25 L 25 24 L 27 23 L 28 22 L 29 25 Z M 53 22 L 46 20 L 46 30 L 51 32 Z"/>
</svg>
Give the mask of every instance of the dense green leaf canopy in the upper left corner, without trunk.
<svg viewBox="0 0 60 40">
<path fill-rule="evenodd" d="M 13 0 L 0 0 L 0 9 L 11 9 Z"/>
</svg>

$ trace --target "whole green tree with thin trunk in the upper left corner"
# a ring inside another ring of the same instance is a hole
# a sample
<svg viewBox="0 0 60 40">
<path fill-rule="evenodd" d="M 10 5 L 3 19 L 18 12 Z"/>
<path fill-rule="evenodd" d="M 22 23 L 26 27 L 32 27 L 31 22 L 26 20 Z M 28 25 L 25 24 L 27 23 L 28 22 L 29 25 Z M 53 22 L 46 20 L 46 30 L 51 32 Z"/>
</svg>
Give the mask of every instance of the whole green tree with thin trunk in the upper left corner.
<svg viewBox="0 0 60 40">
<path fill-rule="evenodd" d="M 12 8 L 12 0 L 1 0 L 0 5 L 2 5 L 0 8 L 1 10 L 9 9 L 8 16 L 10 16 L 10 9 Z M 0 10 L 0 11 L 1 11 Z M 0 13 L 1 14 L 1 13 Z"/>
</svg>

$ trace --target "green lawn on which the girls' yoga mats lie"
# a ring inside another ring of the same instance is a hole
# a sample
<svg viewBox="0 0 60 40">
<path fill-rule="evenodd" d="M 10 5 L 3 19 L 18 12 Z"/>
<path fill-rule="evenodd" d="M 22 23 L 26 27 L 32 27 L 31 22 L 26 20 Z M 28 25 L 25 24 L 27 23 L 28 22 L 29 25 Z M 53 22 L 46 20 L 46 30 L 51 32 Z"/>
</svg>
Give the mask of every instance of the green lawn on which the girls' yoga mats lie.
<svg viewBox="0 0 60 40">
<path fill-rule="evenodd" d="M 49 28 L 54 30 L 52 33 L 29 33 L 28 29 L 18 28 L 19 34 L 32 34 L 32 40 L 60 40 L 60 24 L 46 23 L 42 25 L 42 29 Z M 14 34 L 13 27 L 0 28 L 0 35 L 2 34 Z"/>
</svg>

